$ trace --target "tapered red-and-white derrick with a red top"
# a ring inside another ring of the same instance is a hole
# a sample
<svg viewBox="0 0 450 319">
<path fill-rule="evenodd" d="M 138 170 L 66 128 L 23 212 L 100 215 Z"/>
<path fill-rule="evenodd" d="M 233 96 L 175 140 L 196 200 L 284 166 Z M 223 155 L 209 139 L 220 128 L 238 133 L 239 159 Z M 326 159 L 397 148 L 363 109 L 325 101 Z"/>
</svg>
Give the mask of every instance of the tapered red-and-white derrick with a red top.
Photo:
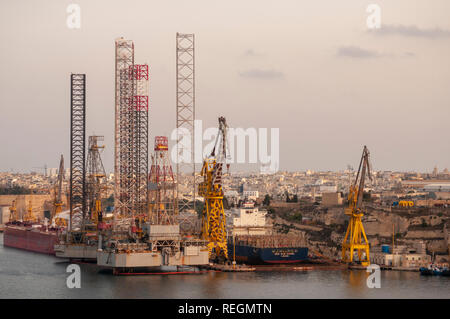
<svg viewBox="0 0 450 319">
<path fill-rule="evenodd" d="M 177 211 L 175 179 L 166 136 L 155 137 L 149 175 L 149 218 L 154 225 L 173 225 Z"/>
</svg>

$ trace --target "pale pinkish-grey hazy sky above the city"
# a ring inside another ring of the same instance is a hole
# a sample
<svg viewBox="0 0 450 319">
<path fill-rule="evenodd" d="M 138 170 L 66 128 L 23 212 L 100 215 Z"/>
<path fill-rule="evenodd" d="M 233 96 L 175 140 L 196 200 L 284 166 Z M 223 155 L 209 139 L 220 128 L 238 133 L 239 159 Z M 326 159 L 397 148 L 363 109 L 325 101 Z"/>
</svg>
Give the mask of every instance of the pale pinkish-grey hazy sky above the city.
<svg viewBox="0 0 450 319">
<path fill-rule="evenodd" d="M 450 168 L 449 17 L 448 0 L 1 1 L 0 171 L 68 165 L 71 73 L 86 73 L 86 134 L 105 136 L 112 171 L 118 37 L 150 67 L 150 149 L 170 136 L 176 32 L 195 34 L 196 118 L 279 128 L 280 170 L 357 167 L 363 145 L 375 170 Z"/>
</svg>

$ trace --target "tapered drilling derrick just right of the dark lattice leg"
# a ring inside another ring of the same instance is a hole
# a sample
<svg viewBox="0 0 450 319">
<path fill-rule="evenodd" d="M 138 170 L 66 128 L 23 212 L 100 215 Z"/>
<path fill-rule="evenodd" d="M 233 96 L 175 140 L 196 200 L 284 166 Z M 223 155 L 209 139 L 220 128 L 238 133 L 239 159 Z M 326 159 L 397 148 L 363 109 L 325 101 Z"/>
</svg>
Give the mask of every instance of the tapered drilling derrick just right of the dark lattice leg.
<svg viewBox="0 0 450 319">
<path fill-rule="evenodd" d="M 106 196 L 106 173 L 103 167 L 100 151 L 105 148 L 99 146 L 103 136 L 89 136 L 89 150 L 87 158 L 87 208 L 89 218 L 94 224 L 102 220 L 102 198 Z"/>
</svg>

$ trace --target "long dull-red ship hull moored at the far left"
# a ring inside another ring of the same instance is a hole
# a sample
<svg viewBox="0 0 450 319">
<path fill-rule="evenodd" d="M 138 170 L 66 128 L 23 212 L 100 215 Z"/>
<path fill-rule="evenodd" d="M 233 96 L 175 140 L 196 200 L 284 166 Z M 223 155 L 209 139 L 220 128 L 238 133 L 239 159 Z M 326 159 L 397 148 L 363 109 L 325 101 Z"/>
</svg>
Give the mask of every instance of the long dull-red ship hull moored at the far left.
<svg viewBox="0 0 450 319">
<path fill-rule="evenodd" d="M 54 255 L 58 243 L 56 230 L 42 227 L 9 224 L 5 226 L 3 246 L 19 248 L 37 253 Z"/>
</svg>

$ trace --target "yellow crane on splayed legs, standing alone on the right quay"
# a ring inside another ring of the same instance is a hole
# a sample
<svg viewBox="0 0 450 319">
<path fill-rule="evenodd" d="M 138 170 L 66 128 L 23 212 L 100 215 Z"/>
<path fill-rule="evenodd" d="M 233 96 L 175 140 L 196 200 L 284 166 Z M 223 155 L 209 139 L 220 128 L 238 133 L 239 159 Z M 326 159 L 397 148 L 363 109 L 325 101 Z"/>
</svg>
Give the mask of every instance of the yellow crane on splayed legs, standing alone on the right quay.
<svg viewBox="0 0 450 319">
<path fill-rule="evenodd" d="M 356 262 L 353 260 L 354 251 L 356 250 L 358 254 L 357 262 L 365 267 L 370 264 L 369 241 L 367 240 L 361 218 L 364 215 L 362 199 L 366 175 L 372 180 L 369 154 L 369 150 L 364 145 L 356 179 L 349 189 L 348 207 L 345 209 L 345 214 L 350 216 L 350 220 L 342 243 L 342 261 L 347 263 Z"/>
</svg>

